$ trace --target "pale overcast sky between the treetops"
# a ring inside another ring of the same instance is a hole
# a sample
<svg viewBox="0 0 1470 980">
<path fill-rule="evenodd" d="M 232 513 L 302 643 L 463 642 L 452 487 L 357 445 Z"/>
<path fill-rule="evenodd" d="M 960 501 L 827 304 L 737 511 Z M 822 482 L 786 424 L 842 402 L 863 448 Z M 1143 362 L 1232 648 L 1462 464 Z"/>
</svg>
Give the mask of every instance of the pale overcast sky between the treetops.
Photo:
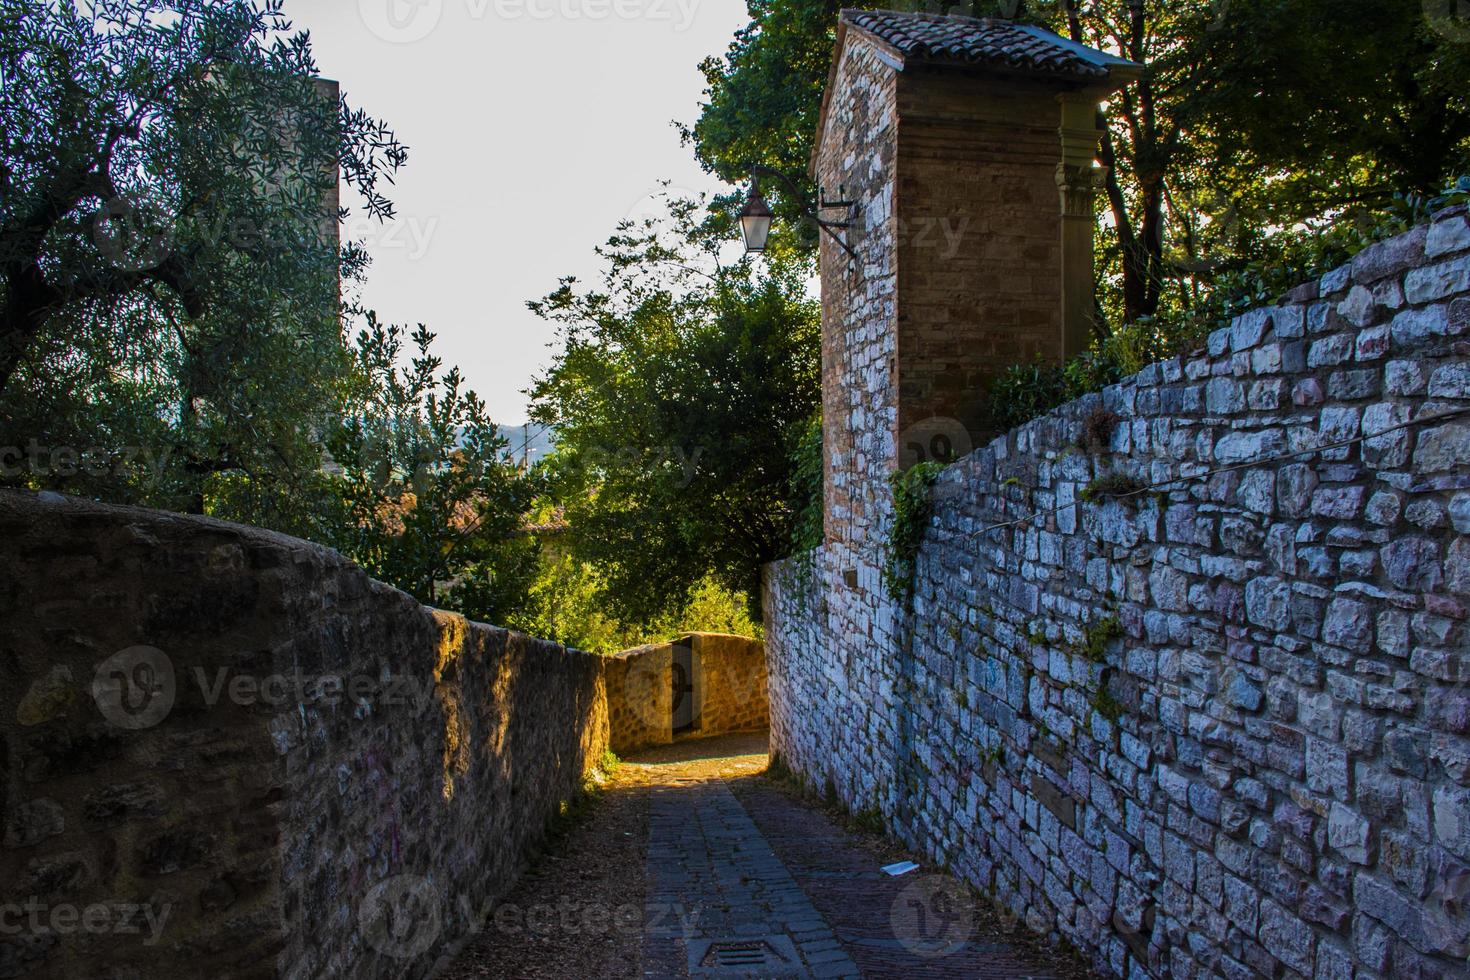
<svg viewBox="0 0 1470 980">
<path fill-rule="evenodd" d="M 716 190 L 672 120 L 698 115 L 709 54 L 744 0 L 287 0 L 322 73 L 409 145 L 365 300 L 428 323 L 506 425 L 551 357 L 526 300 L 591 279 L 592 247 L 647 213 L 657 181 Z"/>
</svg>

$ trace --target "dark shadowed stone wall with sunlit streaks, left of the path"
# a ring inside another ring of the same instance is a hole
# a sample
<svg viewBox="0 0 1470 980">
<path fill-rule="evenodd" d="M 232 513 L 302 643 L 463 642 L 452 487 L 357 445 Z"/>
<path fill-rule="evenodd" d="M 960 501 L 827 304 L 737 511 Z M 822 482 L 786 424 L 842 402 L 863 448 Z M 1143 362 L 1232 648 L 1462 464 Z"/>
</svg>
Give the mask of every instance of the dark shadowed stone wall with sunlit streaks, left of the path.
<svg viewBox="0 0 1470 980">
<path fill-rule="evenodd" d="M 0 492 L 3 977 L 428 976 L 607 736 L 601 658 L 291 538 Z"/>
</svg>

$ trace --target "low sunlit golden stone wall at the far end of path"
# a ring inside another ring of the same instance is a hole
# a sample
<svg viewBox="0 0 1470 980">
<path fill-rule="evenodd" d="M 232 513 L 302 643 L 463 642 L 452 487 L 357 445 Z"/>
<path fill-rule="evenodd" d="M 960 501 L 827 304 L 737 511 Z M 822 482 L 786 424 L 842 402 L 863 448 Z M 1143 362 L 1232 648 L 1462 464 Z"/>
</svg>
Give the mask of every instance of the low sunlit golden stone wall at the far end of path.
<svg viewBox="0 0 1470 980">
<path fill-rule="evenodd" d="M 692 657 L 691 738 L 757 732 L 767 724 L 766 646 L 748 636 L 689 633 L 623 651 L 607 661 L 612 746 L 626 755 L 673 742 L 675 648 Z"/>
</svg>

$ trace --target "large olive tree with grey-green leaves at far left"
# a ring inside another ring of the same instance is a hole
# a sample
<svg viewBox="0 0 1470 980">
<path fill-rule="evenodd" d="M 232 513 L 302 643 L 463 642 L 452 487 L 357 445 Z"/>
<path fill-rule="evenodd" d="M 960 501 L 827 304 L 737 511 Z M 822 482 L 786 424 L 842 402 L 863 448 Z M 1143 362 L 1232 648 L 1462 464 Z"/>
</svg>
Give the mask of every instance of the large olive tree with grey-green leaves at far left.
<svg viewBox="0 0 1470 980">
<path fill-rule="evenodd" d="M 365 266 L 338 173 L 388 219 L 406 160 L 315 75 L 281 0 L 0 0 L 7 482 L 197 511 L 247 478 L 232 516 L 301 519 Z"/>
</svg>

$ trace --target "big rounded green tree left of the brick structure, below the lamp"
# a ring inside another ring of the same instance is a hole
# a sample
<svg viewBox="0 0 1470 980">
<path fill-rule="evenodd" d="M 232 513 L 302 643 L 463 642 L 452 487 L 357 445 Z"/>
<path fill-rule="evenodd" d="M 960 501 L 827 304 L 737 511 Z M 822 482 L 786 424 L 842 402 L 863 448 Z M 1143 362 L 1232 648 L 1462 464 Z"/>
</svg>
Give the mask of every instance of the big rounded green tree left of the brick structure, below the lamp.
<svg viewBox="0 0 1470 980">
<path fill-rule="evenodd" d="M 566 279 L 531 309 L 564 350 L 531 389 L 556 428 L 545 464 L 564 548 L 607 608 L 656 623 L 713 580 L 753 602 L 789 552 L 792 450 L 820 401 L 820 316 L 788 266 L 720 260 L 703 200 L 625 222 L 595 288 Z"/>
</svg>

